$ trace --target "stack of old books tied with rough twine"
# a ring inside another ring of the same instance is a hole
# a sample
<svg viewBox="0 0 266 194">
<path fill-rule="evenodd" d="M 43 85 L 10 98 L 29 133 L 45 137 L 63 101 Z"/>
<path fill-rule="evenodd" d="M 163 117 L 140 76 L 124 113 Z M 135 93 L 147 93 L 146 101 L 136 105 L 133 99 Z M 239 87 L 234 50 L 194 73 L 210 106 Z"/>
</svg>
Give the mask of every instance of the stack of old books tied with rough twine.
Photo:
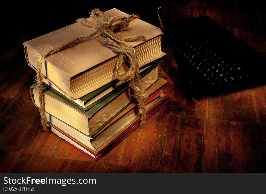
<svg viewBox="0 0 266 194">
<path fill-rule="evenodd" d="M 109 17 L 128 14 L 117 9 L 105 11 Z M 24 42 L 25 56 L 37 71 L 44 56 L 64 42 L 86 36 L 95 30 L 74 23 L 54 32 Z M 162 31 L 140 19 L 130 21 L 123 37 L 143 35 L 147 40 L 130 42 L 134 47 L 146 100 L 146 119 L 167 103 L 162 87 L 167 82 L 158 77 Z M 116 80 L 118 55 L 102 45 L 98 36 L 49 56 L 43 64 L 43 93 L 46 117 L 51 131 L 93 160 L 98 160 L 139 125 L 141 110 L 128 83 Z M 126 70 L 126 69 L 125 69 Z M 34 105 L 39 107 L 37 83 L 31 86 Z"/>
</svg>

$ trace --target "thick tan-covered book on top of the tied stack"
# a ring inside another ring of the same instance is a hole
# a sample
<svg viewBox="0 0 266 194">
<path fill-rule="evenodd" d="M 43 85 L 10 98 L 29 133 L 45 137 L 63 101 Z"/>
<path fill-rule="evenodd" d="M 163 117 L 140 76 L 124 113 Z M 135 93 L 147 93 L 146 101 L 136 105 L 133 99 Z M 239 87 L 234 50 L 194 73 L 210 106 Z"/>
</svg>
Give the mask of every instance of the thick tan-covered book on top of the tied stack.
<svg viewBox="0 0 266 194">
<path fill-rule="evenodd" d="M 128 14 L 117 9 L 105 11 L 109 17 Z M 90 18 L 88 18 L 90 20 Z M 29 66 L 37 69 L 40 56 L 62 45 L 67 40 L 86 36 L 95 30 L 80 23 L 61 28 L 24 42 L 25 57 Z M 143 35 L 147 41 L 128 42 L 135 48 L 140 67 L 165 55 L 161 51 L 161 29 L 140 19 L 130 21 L 127 30 L 118 32 L 123 37 Z M 102 45 L 98 35 L 69 49 L 49 56 L 44 61 L 42 75 L 70 99 L 82 96 L 115 80 L 118 55 Z"/>
</svg>

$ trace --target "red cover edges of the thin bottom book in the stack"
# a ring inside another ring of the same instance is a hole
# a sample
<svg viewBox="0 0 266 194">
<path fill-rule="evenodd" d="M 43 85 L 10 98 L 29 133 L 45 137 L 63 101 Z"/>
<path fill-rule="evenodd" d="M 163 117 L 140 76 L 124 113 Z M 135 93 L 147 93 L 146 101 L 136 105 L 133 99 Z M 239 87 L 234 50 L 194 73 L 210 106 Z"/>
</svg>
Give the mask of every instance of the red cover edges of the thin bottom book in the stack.
<svg viewBox="0 0 266 194">
<path fill-rule="evenodd" d="M 163 99 L 161 99 L 156 105 L 154 105 L 151 109 L 149 109 L 146 114 L 146 120 L 148 120 L 154 113 L 156 113 L 160 108 L 162 108 L 164 105 L 166 105 L 168 103 L 168 101 L 166 100 L 166 98 L 169 96 L 169 94 L 166 94 L 166 96 L 164 96 Z M 84 149 L 86 149 L 88 152 L 90 152 L 92 155 L 95 155 L 98 157 L 97 158 L 93 158 L 91 155 L 87 154 L 86 152 L 84 152 L 83 150 L 77 148 L 76 146 L 74 146 L 73 144 L 71 144 L 70 142 L 66 141 L 67 143 L 69 143 L 71 146 L 75 147 L 76 149 L 78 149 L 80 152 L 82 152 L 83 154 L 85 154 L 86 156 L 88 156 L 89 158 L 91 158 L 93 161 L 98 161 L 100 158 L 102 158 L 107 152 L 109 152 L 112 148 L 114 148 L 119 142 L 121 142 L 123 139 L 125 139 L 126 136 L 128 136 L 132 131 L 134 131 L 136 128 L 138 128 L 139 126 L 139 120 L 136 120 L 134 123 L 132 123 L 127 129 L 125 129 L 119 136 L 117 136 L 114 140 L 112 140 L 112 142 L 110 142 L 109 144 L 107 144 L 98 154 L 93 153 L 92 151 L 88 150 L 87 148 L 85 148 L 83 145 L 80 145 L 78 142 L 76 142 L 74 139 L 70 138 L 69 136 L 67 136 L 69 139 L 71 139 L 73 142 L 75 142 L 76 144 L 78 144 L 79 146 L 83 147 Z M 57 128 L 55 128 L 53 126 L 53 128 L 55 130 L 57 130 Z M 131 128 L 131 129 L 130 129 Z M 128 131 L 128 129 L 130 129 Z M 51 129 L 50 129 L 51 130 Z M 63 136 L 66 136 L 65 134 L 63 134 L 60 130 L 57 130 L 59 133 L 61 133 Z M 123 136 L 122 138 L 120 138 L 121 136 Z M 120 138 L 117 142 L 115 142 L 118 138 Z M 62 138 L 61 138 L 62 139 Z M 114 143 L 115 142 L 115 143 Z M 112 145 L 111 145 L 112 144 Z"/>
</svg>

